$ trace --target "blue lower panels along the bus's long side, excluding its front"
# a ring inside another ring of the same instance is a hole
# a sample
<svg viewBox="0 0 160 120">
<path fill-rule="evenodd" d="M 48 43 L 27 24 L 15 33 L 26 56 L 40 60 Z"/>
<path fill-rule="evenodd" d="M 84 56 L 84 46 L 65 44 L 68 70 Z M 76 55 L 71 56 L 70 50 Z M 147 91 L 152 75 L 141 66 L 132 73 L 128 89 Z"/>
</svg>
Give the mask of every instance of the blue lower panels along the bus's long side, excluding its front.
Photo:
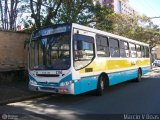
<svg viewBox="0 0 160 120">
<path fill-rule="evenodd" d="M 150 67 L 142 68 L 142 75 L 148 73 L 149 71 Z M 135 79 L 137 77 L 137 74 L 138 69 L 108 74 L 109 86 Z M 95 90 L 97 88 L 97 83 L 98 76 L 81 78 L 79 82 L 74 83 L 74 93 L 80 94 L 87 91 Z"/>
</svg>

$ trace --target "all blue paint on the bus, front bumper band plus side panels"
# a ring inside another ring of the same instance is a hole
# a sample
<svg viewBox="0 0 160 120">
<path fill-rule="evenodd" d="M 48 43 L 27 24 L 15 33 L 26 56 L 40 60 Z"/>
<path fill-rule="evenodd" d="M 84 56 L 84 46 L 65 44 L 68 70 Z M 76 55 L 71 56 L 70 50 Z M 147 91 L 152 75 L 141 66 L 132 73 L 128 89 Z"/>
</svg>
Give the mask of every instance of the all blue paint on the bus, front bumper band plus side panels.
<svg viewBox="0 0 160 120">
<path fill-rule="evenodd" d="M 150 67 L 145 67 L 142 68 L 142 75 L 148 73 L 150 71 Z M 111 73 L 108 74 L 109 77 L 109 85 L 115 85 L 121 82 L 125 82 L 131 79 L 134 79 L 137 77 L 137 72 L 138 69 L 135 70 L 128 70 L 128 71 L 122 71 L 122 72 L 117 72 L 117 73 Z M 34 77 L 29 75 L 29 79 L 32 81 L 36 81 Z M 64 77 L 60 82 L 66 82 L 72 80 L 72 74 L 67 75 Z M 97 83 L 98 83 L 98 76 L 90 76 L 90 77 L 84 77 L 81 78 L 79 81 L 74 82 L 74 94 L 80 94 L 84 92 L 88 92 L 91 90 L 95 90 L 97 88 Z M 37 82 L 38 85 L 42 86 L 57 86 L 57 83 L 49 82 Z"/>
</svg>

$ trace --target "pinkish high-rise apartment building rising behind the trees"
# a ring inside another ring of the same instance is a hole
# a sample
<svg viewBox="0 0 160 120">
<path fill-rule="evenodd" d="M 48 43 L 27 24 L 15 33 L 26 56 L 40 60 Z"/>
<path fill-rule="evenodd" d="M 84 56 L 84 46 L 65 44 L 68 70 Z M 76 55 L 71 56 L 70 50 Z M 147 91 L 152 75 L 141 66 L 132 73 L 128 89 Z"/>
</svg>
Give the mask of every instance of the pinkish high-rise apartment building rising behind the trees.
<svg viewBox="0 0 160 120">
<path fill-rule="evenodd" d="M 115 13 L 135 15 L 135 10 L 129 5 L 129 0 L 96 0 L 97 4 L 114 9 Z"/>
</svg>

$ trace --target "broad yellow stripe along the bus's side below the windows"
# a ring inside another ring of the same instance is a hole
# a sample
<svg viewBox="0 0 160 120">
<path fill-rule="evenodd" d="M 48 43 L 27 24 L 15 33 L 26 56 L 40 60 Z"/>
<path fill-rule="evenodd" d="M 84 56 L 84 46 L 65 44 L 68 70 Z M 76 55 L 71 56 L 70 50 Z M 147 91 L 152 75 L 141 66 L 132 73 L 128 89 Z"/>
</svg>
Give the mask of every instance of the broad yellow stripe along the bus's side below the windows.
<svg viewBox="0 0 160 120">
<path fill-rule="evenodd" d="M 104 60 L 103 58 L 95 59 L 90 65 L 80 70 L 80 73 L 86 73 L 86 68 L 92 68 L 92 72 L 100 72 L 100 71 L 110 71 L 110 70 L 119 70 L 119 69 L 132 69 L 137 68 L 138 66 L 149 66 L 149 59 L 112 59 L 112 60 Z"/>
</svg>

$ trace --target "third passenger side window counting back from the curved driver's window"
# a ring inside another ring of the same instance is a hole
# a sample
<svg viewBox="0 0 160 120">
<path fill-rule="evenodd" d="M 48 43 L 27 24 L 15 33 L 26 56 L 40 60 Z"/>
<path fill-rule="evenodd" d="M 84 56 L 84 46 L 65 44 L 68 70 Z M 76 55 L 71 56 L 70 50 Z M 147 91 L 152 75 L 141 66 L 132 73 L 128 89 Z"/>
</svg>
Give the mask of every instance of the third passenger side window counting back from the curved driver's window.
<svg viewBox="0 0 160 120">
<path fill-rule="evenodd" d="M 125 41 L 119 41 L 120 45 L 120 56 L 121 57 L 129 57 L 129 46 Z"/>
</svg>

